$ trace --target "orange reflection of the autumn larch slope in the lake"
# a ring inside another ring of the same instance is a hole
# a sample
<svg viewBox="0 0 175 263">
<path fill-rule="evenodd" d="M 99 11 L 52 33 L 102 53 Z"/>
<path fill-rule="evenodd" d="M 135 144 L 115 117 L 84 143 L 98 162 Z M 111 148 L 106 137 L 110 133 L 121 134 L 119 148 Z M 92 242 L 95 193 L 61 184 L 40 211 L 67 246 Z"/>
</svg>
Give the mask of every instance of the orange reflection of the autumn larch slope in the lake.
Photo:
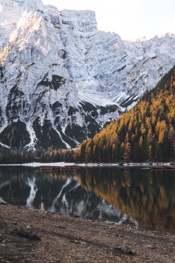
<svg viewBox="0 0 175 263">
<path fill-rule="evenodd" d="M 175 233 L 175 172 L 140 169 L 86 170 L 86 190 L 111 203 L 140 226 Z"/>
</svg>

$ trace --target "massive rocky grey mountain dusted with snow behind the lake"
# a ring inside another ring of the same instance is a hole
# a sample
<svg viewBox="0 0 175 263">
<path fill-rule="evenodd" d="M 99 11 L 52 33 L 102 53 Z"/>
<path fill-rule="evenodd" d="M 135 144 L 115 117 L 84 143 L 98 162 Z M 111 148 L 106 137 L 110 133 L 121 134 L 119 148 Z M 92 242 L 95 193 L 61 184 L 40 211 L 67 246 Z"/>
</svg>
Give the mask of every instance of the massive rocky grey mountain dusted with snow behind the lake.
<svg viewBox="0 0 175 263">
<path fill-rule="evenodd" d="M 92 137 L 175 64 L 175 37 L 125 42 L 95 12 L 0 0 L 0 145 L 65 148 Z"/>
</svg>

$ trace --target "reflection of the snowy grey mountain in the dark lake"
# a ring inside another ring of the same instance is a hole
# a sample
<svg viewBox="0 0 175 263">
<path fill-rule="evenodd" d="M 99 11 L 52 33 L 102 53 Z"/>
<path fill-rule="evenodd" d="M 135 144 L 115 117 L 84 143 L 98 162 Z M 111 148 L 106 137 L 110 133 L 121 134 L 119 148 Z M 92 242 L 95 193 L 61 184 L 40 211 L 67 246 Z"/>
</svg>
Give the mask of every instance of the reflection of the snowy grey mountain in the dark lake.
<svg viewBox="0 0 175 263">
<path fill-rule="evenodd" d="M 0 167 L 0 197 L 19 206 L 135 224 L 92 190 L 84 189 L 80 181 L 77 171 L 39 172 L 25 167 Z"/>
</svg>

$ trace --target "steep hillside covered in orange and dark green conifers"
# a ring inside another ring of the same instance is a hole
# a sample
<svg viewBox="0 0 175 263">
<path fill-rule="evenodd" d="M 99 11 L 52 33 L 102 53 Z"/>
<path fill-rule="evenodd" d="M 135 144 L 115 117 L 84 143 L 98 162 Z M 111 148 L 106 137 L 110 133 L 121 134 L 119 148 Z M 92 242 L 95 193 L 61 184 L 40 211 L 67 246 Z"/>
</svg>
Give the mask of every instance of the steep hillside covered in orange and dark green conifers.
<svg viewBox="0 0 175 263">
<path fill-rule="evenodd" d="M 175 159 L 175 66 L 138 105 L 84 140 L 80 161 L 140 162 Z"/>
</svg>

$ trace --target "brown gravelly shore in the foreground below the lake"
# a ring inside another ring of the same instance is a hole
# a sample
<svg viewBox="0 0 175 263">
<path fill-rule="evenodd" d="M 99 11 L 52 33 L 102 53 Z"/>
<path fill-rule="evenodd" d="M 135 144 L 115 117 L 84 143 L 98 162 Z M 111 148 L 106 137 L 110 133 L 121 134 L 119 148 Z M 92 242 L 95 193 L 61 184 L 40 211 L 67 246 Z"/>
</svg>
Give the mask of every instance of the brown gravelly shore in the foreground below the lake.
<svg viewBox="0 0 175 263">
<path fill-rule="evenodd" d="M 0 205 L 1 263 L 166 263 L 174 249 L 174 235 Z"/>
</svg>

